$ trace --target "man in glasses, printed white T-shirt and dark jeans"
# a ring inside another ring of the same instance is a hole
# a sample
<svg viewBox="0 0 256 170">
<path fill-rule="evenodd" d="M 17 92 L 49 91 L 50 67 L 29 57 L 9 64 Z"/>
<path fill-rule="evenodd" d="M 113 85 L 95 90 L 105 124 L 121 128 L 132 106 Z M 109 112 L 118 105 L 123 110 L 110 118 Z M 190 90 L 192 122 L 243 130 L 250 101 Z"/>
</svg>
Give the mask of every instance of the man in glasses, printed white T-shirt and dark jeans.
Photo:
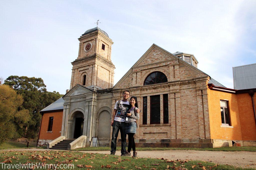
<svg viewBox="0 0 256 170">
<path fill-rule="evenodd" d="M 126 153 L 125 120 L 126 120 L 126 113 L 129 109 L 129 101 L 127 101 L 129 96 L 130 96 L 130 92 L 128 90 L 125 90 L 123 92 L 123 99 L 116 101 L 114 106 L 114 111 L 113 111 L 112 120 L 111 120 L 111 126 L 113 126 L 111 151 L 110 151 L 111 155 L 114 155 L 116 151 L 116 139 L 118 137 L 119 129 L 120 129 L 121 141 L 122 141 L 121 156 Z M 137 109 L 136 112 L 139 113 L 140 110 Z"/>
</svg>

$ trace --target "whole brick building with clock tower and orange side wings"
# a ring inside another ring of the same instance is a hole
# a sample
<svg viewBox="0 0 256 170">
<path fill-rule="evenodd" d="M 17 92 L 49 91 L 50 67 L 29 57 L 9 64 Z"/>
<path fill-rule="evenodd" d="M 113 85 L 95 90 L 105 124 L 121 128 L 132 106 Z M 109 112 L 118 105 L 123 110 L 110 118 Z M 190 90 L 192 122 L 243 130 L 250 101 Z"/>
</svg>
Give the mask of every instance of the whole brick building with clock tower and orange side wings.
<svg viewBox="0 0 256 170">
<path fill-rule="evenodd" d="M 111 140 L 111 115 L 124 90 L 141 110 L 137 146 L 220 147 L 255 145 L 256 89 L 229 89 L 197 69 L 194 55 L 153 44 L 113 86 L 112 40 L 96 27 L 80 38 L 70 90 L 41 111 L 38 145 L 63 136 Z M 119 135 L 120 136 L 120 135 Z M 239 144 L 238 144 L 239 145 Z"/>
</svg>

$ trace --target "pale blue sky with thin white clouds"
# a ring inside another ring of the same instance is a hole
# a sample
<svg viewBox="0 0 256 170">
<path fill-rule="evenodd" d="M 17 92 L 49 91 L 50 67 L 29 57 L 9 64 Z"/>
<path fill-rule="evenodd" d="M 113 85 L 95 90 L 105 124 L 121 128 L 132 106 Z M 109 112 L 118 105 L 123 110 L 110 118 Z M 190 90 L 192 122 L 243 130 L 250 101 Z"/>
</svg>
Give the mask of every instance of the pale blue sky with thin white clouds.
<svg viewBox="0 0 256 170">
<path fill-rule="evenodd" d="M 255 8 L 255 0 L 1 0 L 0 77 L 41 77 L 47 91 L 65 94 L 77 38 L 99 19 L 114 42 L 114 84 L 155 43 L 194 54 L 198 69 L 233 88 L 232 67 L 256 63 Z"/>
</svg>

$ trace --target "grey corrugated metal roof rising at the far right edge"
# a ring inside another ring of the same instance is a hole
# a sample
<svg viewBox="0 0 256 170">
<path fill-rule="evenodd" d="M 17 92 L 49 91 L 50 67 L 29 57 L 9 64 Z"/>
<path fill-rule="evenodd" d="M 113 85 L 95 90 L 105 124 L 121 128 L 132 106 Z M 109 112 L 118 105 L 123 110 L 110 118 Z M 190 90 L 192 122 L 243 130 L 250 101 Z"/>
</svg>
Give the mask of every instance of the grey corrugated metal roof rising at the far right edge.
<svg viewBox="0 0 256 170">
<path fill-rule="evenodd" d="M 256 63 L 232 67 L 234 89 L 256 88 Z"/>
</svg>

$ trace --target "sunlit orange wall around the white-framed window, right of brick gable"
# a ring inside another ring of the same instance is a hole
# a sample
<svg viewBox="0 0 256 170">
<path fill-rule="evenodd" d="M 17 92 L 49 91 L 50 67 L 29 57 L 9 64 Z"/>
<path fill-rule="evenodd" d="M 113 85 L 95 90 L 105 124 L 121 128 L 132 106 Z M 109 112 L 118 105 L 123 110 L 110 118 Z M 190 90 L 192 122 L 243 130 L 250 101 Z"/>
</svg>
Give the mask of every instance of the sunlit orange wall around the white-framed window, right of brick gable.
<svg viewBox="0 0 256 170">
<path fill-rule="evenodd" d="M 237 94 L 207 89 L 211 139 L 242 140 Z M 231 126 L 220 127 L 220 100 L 228 100 Z"/>
</svg>

